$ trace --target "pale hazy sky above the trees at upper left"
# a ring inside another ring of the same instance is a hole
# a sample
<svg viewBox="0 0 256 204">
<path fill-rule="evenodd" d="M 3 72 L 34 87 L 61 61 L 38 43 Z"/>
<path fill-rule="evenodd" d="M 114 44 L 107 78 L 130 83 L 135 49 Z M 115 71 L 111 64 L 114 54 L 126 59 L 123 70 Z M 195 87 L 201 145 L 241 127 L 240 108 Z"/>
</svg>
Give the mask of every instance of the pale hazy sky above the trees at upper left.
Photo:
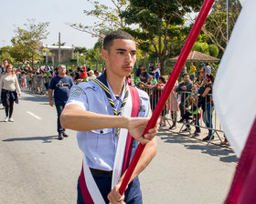
<svg viewBox="0 0 256 204">
<path fill-rule="evenodd" d="M 102 2 L 102 1 L 101 1 Z M 92 26 L 97 18 L 83 14 L 93 6 L 87 0 L 0 0 L 0 47 L 11 46 L 11 38 L 15 36 L 16 26 L 23 26 L 27 19 L 36 19 L 36 23 L 49 22 L 48 39 L 44 44 L 50 46 L 59 41 L 65 46 L 85 46 L 92 48 L 97 38 L 67 26 L 65 23 L 82 23 Z M 108 0 L 104 3 L 109 4 Z"/>
</svg>

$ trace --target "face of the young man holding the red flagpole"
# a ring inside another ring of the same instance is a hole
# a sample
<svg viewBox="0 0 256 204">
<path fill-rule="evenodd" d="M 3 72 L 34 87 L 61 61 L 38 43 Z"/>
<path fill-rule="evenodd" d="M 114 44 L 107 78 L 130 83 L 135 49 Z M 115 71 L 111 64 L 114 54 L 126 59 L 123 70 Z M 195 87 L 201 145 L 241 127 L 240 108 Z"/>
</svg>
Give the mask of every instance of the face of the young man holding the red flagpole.
<svg viewBox="0 0 256 204">
<path fill-rule="evenodd" d="M 129 76 L 136 61 L 136 45 L 133 40 L 115 39 L 110 50 L 101 50 L 107 73 L 115 77 Z"/>
</svg>

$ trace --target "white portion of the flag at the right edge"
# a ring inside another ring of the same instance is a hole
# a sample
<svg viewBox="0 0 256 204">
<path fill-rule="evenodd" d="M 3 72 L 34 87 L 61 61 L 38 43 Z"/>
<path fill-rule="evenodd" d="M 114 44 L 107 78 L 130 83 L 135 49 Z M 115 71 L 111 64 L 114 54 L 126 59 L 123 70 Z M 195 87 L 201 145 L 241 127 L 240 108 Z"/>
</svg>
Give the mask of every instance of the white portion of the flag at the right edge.
<svg viewBox="0 0 256 204">
<path fill-rule="evenodd" d="M 255 0 L 244 4 L 213 87 L 220 124 L 238 157 L 256 115 L 255 7 Z"/>
</svg>

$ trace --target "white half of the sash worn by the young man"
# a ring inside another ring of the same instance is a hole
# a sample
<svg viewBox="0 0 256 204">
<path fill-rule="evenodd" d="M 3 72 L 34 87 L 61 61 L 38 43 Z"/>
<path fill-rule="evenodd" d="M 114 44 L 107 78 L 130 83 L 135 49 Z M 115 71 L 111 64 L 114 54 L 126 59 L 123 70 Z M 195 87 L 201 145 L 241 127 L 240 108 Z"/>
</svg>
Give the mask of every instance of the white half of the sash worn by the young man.
<svg viewBox="0 0 256 204">
<path fill-rule="evenodd" d="M 133 101 L 132 101 L 129 88 L 128 88 L 128 92 L 129 92 L 129 96 L 127 98 L 127 102 L 125 106 L 123 107 L 122 115 L 126 117 L 131 117 L 132 109 L 133 109 Z M 118 145 L 115 153 L 113 170 L 112 170 L 112 189 L 117 184 L 117 182 L 121 177 L 121 172 L 123 168 L 123 155 L 125 151 L 127 135 L 128 135 L 128 130 L 125 128 L 121 128 L 120 135 L 118 138 Z M 83 157 L 83 173 L 84 173 L 84 179 L 85 179 L 87 189 L 90 192 L 91 199 L 93 199 L 93 202 L 95 204 L 105 204 L 105 201 L 101 196 L 101 192 L 98 189 L 97 184 L 95 183 L 95 180 L 91 175 L 91 170 L 87 165 L 85 155 Z"/>
</svg>

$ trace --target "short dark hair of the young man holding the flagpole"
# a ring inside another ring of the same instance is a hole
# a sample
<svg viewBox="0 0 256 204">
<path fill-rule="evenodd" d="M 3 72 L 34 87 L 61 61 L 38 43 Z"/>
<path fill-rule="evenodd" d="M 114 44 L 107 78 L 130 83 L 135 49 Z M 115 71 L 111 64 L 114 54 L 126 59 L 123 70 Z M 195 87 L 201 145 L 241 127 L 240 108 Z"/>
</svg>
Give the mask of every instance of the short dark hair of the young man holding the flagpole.
<svg viewBox="0 0 256 204">
<path fill-rule="evenodd" d="M 107 34 L 103 40 L 103 49 L 108 51 L 111 50 L 112 41 L 115 39 L 127 39 L 127 40 L 134 40 L 133 36 L 123 30 L 116 30 L 112 31 L 111 33 Z"/>
</svg>

